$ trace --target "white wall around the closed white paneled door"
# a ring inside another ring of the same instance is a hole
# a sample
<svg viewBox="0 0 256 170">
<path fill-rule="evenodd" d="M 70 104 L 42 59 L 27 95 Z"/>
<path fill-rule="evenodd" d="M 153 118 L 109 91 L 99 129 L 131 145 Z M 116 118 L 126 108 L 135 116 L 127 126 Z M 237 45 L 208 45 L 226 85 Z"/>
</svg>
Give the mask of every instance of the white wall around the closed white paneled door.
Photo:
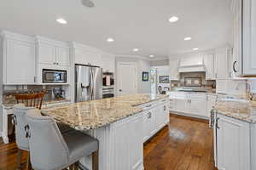
<svg viewBox="0 0 256 170">
<path fill-rule="evenodd" d="M 139 56 L 123 56 L 123 55 L 116 55 L 115 58 L 116 62 L 116 71 L 117 71 L 117 62 L 136 62 L 137 63 L 137 93 L 150 93 L 150 81 L 143 82 L 142 76 L 143 71 L 150 71 L 150 62 L 146 59 L 140 58 Z M 117 74 L 115 74 L 116 76 Z M 115 77 L 115 89 L 117 90 L 117 77 Z M 117 94 L 117 91 L 116 93 Z"/>
</svg>

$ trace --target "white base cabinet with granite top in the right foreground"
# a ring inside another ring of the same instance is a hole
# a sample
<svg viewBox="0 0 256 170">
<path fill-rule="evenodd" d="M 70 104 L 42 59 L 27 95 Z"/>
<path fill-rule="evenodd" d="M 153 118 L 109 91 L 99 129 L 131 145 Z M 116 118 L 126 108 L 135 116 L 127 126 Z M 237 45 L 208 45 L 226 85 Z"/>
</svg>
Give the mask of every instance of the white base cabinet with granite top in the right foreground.
<svg viewBox="0 0 256 170">
<path fill-rule="evenodd" d="M 256 102 L 218 97 L 214 106 L 214 159 L 218 169 L 256 169 Z"/>
</svg>

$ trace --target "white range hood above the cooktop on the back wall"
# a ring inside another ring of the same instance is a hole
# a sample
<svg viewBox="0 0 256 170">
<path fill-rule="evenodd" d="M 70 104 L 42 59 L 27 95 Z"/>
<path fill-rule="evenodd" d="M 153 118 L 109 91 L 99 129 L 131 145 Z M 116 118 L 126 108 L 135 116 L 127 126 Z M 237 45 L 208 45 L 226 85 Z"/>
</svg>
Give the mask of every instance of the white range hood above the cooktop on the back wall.
<svg viewBox="0 0 256 170">
<path fill-rule="evenodd" d="M 206 71 L 203 58 L 199 55 L 184 57 L 180 59 L 178 72 L 201 72 Z"/>
</svg>

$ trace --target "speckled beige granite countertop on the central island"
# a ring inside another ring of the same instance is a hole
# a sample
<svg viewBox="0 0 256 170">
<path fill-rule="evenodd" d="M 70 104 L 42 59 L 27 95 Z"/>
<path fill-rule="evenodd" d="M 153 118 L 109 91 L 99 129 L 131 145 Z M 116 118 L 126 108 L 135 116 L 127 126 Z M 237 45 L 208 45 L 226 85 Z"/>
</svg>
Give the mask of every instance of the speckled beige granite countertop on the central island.
<svg viewBox="0 0 256 170">
<path fill-rule="evenodd" d="M 142 105 L 168 95 L 135 94 L 108 99 L 97 99 L 75 104 L 53 106 L 42 111 L 77 130 L 89 130 L 106 126 L 127 116 L 143 111 Z"/>
</svg>

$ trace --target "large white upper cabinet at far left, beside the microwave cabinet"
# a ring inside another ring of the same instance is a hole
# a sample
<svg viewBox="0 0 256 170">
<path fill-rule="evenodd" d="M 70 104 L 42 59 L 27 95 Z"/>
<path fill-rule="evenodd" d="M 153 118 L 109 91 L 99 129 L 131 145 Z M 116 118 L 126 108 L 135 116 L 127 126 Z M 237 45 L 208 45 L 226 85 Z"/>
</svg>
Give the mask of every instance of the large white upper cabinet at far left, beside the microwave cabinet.
<svg viewBox="0 0 256 170">
<path fill-rule="evenodd" d="M 35 83 L 35 42 L 32 37 L 8 31 L 3 37 L 3 84 Z"/>
</svg>

